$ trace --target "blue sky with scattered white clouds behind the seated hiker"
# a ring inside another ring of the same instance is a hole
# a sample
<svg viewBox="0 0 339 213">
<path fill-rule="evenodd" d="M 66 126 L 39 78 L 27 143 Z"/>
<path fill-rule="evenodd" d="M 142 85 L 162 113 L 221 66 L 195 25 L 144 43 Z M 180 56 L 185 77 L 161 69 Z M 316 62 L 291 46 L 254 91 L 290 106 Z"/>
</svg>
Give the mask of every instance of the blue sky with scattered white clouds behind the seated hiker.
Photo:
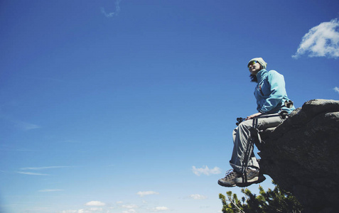
<svg viewBox="0 0 339 213">
<path fill-rule="evenodd" d="M 339 99 L 339 1 L 1 1 L 4 212 L 220 212 L 247 62 Z M 262 183 L 272 187 L 271 180 Z M 256 192 L 258 185 L 249 187 Z"/>
</svg>

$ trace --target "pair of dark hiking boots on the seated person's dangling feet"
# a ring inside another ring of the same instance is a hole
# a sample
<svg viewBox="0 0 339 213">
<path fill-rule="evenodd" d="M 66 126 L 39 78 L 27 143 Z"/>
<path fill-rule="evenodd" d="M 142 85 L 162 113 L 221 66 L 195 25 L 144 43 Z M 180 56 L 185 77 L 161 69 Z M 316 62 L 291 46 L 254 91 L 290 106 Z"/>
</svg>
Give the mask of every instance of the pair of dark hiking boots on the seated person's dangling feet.
<svg viewBox="0 0 339 213">
<path fill-rule="evenodd" d="M 218 180 L 217 183 L 224 187 L 247 187 L 253 183 L 263 182 L 265 179 L 264 175 L 259 174 L 259 169 L 247 168 L 244 175 L 228 170 L 225 178 Z"/>
</svg>

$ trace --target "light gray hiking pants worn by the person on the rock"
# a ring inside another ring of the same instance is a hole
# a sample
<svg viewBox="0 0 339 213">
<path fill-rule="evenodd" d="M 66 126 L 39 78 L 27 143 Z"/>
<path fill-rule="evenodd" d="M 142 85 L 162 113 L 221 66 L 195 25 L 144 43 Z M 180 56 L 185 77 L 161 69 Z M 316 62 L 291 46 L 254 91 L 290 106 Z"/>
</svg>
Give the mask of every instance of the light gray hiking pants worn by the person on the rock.
<svg viewBox="0 0 339 213">
<path fill-rule="evenodd" d="M 273 116 L 276 115 L 276 116 Z M 269 117 L 264 117 L 269 116 Z M 270 114 L 264 116 L 257 116 L 257 129 L 264 130 L 281 124 L 283 119 L 279 114 Z M 230 165 L 237 173 L 242 173 L 243 166 L 249 166 L 259 169 L 259 163 L 254 156 L 253 140 L 251 140 L 251 129 L 253 129 L 253 119 L 242 121 L 235 130 L 233 130 L 233 153 L 230 160 Z M 248 162 L 246 162 L 248 159 Z"/>
</svg>

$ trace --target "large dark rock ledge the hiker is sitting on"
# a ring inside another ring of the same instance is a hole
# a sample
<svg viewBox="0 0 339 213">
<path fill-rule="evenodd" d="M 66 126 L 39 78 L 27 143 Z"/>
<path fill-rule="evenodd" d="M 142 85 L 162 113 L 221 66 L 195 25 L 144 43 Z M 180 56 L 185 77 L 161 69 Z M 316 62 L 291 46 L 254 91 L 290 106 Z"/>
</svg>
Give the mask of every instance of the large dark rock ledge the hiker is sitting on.
<svg viewBox="0 0 339 213">
<path fill-rule="evenodd" d="M 303 212 L 338 211 L 339 101 L 308 101 L 261 136 L 262 172 L 296 196 Z"/>
</svg>

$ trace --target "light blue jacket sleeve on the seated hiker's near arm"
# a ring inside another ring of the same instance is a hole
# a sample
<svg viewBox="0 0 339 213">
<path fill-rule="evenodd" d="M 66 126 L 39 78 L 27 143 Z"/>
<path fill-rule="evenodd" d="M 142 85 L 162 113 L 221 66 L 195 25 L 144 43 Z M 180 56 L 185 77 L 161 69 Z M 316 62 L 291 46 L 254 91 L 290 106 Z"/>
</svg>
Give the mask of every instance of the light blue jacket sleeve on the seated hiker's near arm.
<svg viewBox="0 0 339 213">
<path fill-rule="evenodd" d="M 283 75 L 280 75 L 275 70 L 271 70 L 268 72 L 267 82 L 270 86 L 270 94 L 269 97 L 265 99 L 262 109 L 260 109 L 260 112 L 262 113 L 271 111 L 278 105 L 281 105 L 282 99 L 286 94 L 285 80 Z"/>
</svg>

